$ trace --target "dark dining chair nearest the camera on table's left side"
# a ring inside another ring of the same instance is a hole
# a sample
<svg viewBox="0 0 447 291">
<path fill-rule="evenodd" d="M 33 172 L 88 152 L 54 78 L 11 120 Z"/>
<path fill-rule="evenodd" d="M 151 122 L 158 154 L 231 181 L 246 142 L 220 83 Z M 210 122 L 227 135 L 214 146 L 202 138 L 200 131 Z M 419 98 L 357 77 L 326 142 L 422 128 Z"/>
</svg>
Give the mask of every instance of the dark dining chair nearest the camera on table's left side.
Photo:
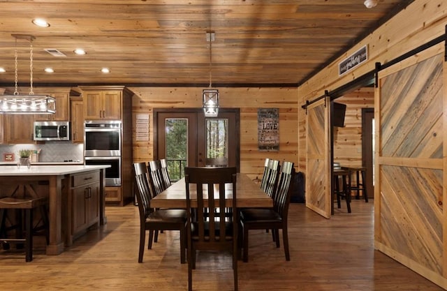
<svg viewBox="0 0 447 291">
<path fill-rule="evenodd" d="M 146 230 L 149 230 L 149 244 L 147 248 L 152 248 L 154 232 L 159 230 L 179 230 L 180 232 L 180 262 L 185 260 L 186 247 L 186 210 L 184 209 L 157 209 L 151 207 L 152 199 L 147 174 L 146 163 L 134 163 L 135 181 L 138 187 L 136 193 L 138 200 L 138 210 L 140 211 L 140 251 L 138 262 L 142 262 L 145 251 Z"/>
</svg>

